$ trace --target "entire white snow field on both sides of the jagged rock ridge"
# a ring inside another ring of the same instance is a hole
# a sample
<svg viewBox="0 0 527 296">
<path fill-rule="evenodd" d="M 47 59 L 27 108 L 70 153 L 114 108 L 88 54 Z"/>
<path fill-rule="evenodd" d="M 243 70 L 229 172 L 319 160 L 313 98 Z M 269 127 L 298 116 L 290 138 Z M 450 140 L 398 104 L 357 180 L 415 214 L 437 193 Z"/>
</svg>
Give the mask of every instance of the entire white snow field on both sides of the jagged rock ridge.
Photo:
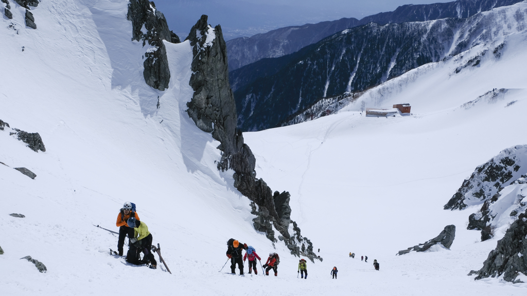
<svg viewBox="0 0 527 296">
<path fill-rule="evenodd" d="M 0 165 L 2 295 L 525 293 L 525 284 L 467 277 L 496 239 L 477 242 L 479 232 L 465 230 L 476 209 L 442 210 L 476 165 L 526 142 L 524 35 L 510 37 L 499 61 L 448 76 L 459 63 L 453 58 L 389 82 L 398 88 L 382 105 L 411 103 L 412 116 L 365 118 L 350 105 L 320 120 L 246 134 L 258 177 L 291 193 L 292 219 L 321 249 L 324 261 L 308 262 L 309 277 L 300 280 L 298 259 L 253 229 L 232 172 L 217 171 L 219 143 L 184 112 L 192 97 L 190 45 L 165 43 L 171 83 L 168 91 L 153 90 L 142 77 L 148 48 L 131 41 L 127 3 L 43 0 L 32 9 L 36 30 L 25 27 L 24 9 L 14 2 L 13 20 L 2 18 L 0 119 L 40 133 L 46 145 L 36 153 L 11 129 L 0 131 L 7 165 Z M 502 87 L 514 90 L 461 107 Z M 117 231 L 125 201 L 137 204 L 172 274 L 161 263 L 150 270 L 109 254 L 116 236 L 92 224 Z M 452 250 L 395 256 L 447 224 L 457 228 Z M 278 278 L 233 276 L 228 265 L 218 272 L 230 238 L 254 246 L 264 260 L 278 252 Z M 19 260 L 26 255 L 48 271 Z M 330 279 L 334 266 L 338 280 Z"/>
</svg>

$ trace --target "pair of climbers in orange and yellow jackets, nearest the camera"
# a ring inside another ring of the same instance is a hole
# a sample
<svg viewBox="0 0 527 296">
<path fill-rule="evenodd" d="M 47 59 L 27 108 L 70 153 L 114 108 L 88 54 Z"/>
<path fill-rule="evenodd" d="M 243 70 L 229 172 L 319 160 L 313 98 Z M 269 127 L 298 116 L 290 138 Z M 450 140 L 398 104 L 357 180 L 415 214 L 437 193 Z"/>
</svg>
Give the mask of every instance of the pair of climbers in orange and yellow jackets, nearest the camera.
<svg viewBox="0 0 527 296">
<path fill-rule="evenodd" d="M 115 225 L 119 227 L 119 240 L 117 242 L 119 256 L 123 255 L 124 239 L 128 235 L 126 262 L 136 265 L 150 263 L 150 268 L 156 269 L 157 262 L 151 252 L 152 234 L 148 231 L 147 224 L 139 220 L 133 203 L 125 202 L 123 204 L 123 208 L 117 215 Z M 140 260 L 141 253 L 144 254 L 143 260 Z"/>
</svg>

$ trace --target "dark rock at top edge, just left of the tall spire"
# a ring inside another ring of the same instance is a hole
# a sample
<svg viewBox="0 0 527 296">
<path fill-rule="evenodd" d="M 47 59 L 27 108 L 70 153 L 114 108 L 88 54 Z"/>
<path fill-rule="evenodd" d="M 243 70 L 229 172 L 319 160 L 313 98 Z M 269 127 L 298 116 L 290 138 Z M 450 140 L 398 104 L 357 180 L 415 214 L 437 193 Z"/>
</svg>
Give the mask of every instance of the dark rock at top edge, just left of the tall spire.
<svg viewBox="0 0 527 296">
<path fill-rule="evenodd" d="M 167 48 L 163 40 L 179 43 L 178 35 L 169 30 L 167 19 L 155 9 L 155 4 L 148 0 L 130 0 L 128 4 L 129 21 L 132 21 L 132 40 L 148 42 L 152 46 L 145 53 L 143 77 L 145 82 L 157 90 L 164 91 L 170 82 Z M 144 33 L 142 27 L 147 29 Z"/>
</svg>

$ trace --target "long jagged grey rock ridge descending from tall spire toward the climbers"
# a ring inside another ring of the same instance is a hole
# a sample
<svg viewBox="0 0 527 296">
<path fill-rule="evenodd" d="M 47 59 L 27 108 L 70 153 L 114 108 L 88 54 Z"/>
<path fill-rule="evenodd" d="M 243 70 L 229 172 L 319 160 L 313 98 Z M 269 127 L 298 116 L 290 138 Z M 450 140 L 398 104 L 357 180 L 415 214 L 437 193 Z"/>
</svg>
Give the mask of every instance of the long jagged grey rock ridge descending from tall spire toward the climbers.
<svg viewBox="0 0 527 296">
<path fill-rule="evenodd" d="M 300 235 L 296 223 L 290 220 L 288 192 L 275 192 L 262 179 L 256 179 L 256 159 L 249 146 L 243 143 L 243 135 L 237 129 L 237 112 L 234 96 L 229 85 L 227 46 L 221 27 L 212 28 L 208 17 L 201 16 L 191 28 L 187 40 L 193 52 L 190 86 L 194 90 L 187 103 L 188 114 L 196 125 L 221 144 L 222 157 L 219 170 L 235 171 L 234 186 L 251 201 L 252 213 L 257 215 L 253 225 L 258 231 L 276 242 L 273 227 L 280 232 L 278 239 L 285 242 L 291 254 L 317 258 L 311 242 Z M 289 233 L 293 223 L 294 232 Z M 319 258 L 318 258 L 319 259 Z"/>
</svg>

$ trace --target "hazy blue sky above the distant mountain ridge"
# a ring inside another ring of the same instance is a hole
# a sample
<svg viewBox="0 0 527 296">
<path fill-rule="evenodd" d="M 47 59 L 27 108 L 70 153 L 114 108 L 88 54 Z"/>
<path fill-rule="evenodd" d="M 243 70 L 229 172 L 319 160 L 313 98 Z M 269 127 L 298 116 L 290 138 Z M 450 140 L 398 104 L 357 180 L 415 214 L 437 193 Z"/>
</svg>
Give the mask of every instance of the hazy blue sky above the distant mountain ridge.
<svg viewBox="0 0 527 296">
<path fill-rule="evenodd" d="M 202 14 L 209 24 L 221 25 L 226 40 L 252 36 L 291 25 L 363 18 L 393 11 L 405 4 L 430 4 L 454 0 L 153 0 L 167 18 L 169 28 L 181 38 Z"/>
</svg>

